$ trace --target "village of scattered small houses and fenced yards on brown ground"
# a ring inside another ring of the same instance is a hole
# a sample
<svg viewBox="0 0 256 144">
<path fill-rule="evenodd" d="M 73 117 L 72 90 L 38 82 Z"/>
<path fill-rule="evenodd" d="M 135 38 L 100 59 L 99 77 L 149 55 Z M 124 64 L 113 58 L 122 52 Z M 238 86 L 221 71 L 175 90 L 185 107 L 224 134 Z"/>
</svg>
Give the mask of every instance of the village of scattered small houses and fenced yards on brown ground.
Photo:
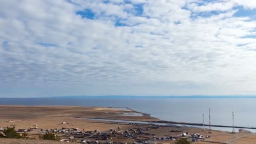
<svg viewBox="0 0 256 144">
<path fill-rule="evenodd" d="M 61 125 L 69 123 L 62 122 Z M 65 142 L 76 142 L 82 144 L 155 144 L 155 143 L 173 143 L 176 139 L 185 138 L 188 141 L 195 142 L 201 141 L 210 136 L 203 136 L 199 133 L 184 132 L 180 129 L 171 129 L 169 133 L 163 136 L 158 135 L 157 129 L 161 128 L 161 125 L 146 125 L 138 123 L 129 123 L 132 128 L 123 129 L 120 126 L 117 128 L 110 128 L 107 131 L 86 131 L 85 129 L 80 130 L 79 128 L 52 128 L 43 129 L 37 124 L 34 127 L 27 129 L 18 129 L 17 131 L 27 133 L 28 139 L 39 139 L 45 133 L 54 133 L 60 137 L 60 141 Z M 16 125 L 10 125 L 15 127 Z M 3 131 L 4 128 L 0 128 Z M 174 133 L 174 134 L 173 134 Z"/>
</svg>

